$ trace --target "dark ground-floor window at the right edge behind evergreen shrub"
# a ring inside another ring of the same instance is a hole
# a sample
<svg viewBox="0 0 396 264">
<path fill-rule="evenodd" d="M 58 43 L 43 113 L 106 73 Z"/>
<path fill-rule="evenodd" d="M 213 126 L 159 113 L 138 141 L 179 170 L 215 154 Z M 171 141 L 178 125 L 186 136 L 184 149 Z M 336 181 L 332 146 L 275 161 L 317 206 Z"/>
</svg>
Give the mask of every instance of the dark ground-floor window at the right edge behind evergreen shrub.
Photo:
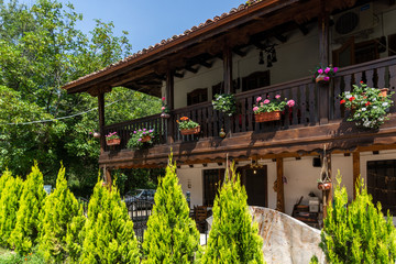
<svg viewBox="0 0 396 264">
<path fill-rule="evenodd" d="M 367 190 L 384 213 L 396 215 L 396 160 L 367 162 Z"/>
</svg>

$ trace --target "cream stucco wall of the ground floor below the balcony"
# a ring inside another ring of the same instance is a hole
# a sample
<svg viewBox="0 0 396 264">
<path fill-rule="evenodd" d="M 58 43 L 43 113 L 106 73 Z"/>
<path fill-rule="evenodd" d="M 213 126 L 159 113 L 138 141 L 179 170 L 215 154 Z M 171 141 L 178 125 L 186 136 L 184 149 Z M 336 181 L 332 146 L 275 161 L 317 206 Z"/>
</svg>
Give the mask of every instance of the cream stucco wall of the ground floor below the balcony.
<svg viewBox="0 0 396 264">
<path fill-rule="evenodd" d="M 284 158 L 284 173 L 287 178 L 287 184 L 284 186 L 285 190 L 285 209 L 287 215 L 292 215 L 293 206 L 304 196 L 302 204 L 308 205 L 308 194 L 314 191 L 321 197 L 321 191 L 317 188 L 317 179 L 319 178 L 320 167 L 312 166 L 314 156 L 305 156 L 301 160 Z M 381 151 L 380 154 L 374 155 L 372 152 L 361 153 L 361 174 L 366 182 L 366 163 L 367 161 L 380 160 L 395 160 L 396 151 Z M 267 167 L 267 194 L 268 208 L 276 208 L 276 193 L 273 189 L 276 179 L 276 163 L 272 160 L 260 160 L 260 164 Z M 250 161 L 240 162 L 238 166 L 245 166 Z M 190 191 L 191 207 L 194 205 L 202 205 L 204 200 L 204 180 L 202 170 L 211 168 L 224 168 L 217 163 L 208 164 L 204 167 L 201 164 L 189 166 L 182 166 L 177 169 L 177 176 L 182 184 L 183 193 Z M 352 155 L 344 156 L 343 154 L 331 155 L 332 178 L 336 179 L 338 169 L 342 175 L 342 185 L 345 186 L 349 195 L 349 200 L 353 198 L 353 162 Z M 188 180 L 191 183 L 191 188 L 188 188 Z M 334 182 L 336 183 L 336 182 Z M 396 218 L 395 218 L 396 220 Z"/>
</svg>

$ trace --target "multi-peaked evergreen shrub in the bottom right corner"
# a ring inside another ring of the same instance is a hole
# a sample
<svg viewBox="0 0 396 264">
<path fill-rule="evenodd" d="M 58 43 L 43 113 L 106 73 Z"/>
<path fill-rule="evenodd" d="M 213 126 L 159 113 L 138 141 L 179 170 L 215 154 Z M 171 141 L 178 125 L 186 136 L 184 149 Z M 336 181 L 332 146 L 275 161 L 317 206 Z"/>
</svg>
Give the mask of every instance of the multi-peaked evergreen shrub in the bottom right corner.
<svg viewBox="0 0 396 264">
<path fill-rule="evenodd" d="M 356 185 L 356 198 L 348 205 L 345 187 L 337 176 L 333 207 L 321 233 L 320 248 L 329 263 L 394 263 L 396 261 L 396 230 L 388 215 L 375 207 L 363 179 Z"/>
</svg>

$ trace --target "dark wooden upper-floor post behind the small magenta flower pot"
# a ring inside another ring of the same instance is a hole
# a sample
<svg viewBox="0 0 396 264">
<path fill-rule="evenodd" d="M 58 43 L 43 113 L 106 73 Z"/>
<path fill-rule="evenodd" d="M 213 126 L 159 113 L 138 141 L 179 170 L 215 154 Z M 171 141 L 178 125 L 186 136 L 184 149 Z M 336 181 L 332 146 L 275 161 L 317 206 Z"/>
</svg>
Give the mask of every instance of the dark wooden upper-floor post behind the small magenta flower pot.
<svg viewBox="0 0 396 264">
<path fill-rule="evenodd" d="M 319 33 L 319 63 L 321 67 L 329 66 L 329 12 L 326 10 L 324 0 L 320 1 L 321 12 L 318 18 Z M 320 124 L 329 123 L 329 82 L 318 84 L 319 122 Z"/>
</svg>

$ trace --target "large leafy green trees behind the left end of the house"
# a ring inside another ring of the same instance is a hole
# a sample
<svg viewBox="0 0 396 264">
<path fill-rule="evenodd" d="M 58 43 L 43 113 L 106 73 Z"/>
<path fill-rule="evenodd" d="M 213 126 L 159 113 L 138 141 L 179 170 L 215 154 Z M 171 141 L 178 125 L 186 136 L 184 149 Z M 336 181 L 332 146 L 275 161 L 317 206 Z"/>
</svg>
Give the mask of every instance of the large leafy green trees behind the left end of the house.
<svg viewBox="0 0 396 264">
<path fill-rule="evenodd" d="M 97 20 L 87 35 L 76 29 L 81 20 L 72 4 L 56 0 L 31 7 L 0 1 L 0 109 L 7 113 L 0 117 L 0 170 L 26 175 L 36 160 L 45 183 L 55 185 L 63 160 L 72 189 L 80 196 L 89 195 L 96 183 L 99 142 L 88 132 L 98 129 L 97 99 L 67 95 L 61 87 L 131 52 L 128 32 L 116 36 L 111 22 Z M 124 88 L 107 95 L 106 105 L 107 123 L 161 109 L 160 99 Z M 74 114 L 79 116 L 62 119 Z M 61 120 L 21 124 L 54 118 Z"/>
</svg>

